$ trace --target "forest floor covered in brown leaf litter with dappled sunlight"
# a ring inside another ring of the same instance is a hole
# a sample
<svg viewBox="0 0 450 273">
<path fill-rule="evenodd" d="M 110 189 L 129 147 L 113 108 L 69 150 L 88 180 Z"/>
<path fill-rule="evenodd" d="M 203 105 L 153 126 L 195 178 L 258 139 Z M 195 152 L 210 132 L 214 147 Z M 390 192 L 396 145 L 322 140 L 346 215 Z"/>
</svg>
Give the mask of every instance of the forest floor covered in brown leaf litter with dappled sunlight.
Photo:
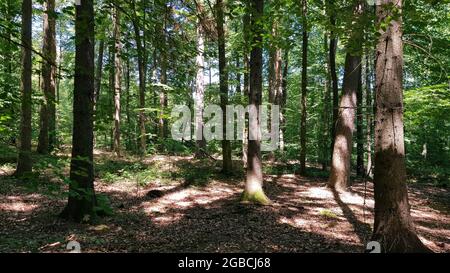
<svg viewBox="0 0 450 273">
<path fill-rule="evenodd" d="M 30 188 L 10 178 L 13 165 L 0 165 L 0 252 L 67 252 L 71 240 L 82 252 L 364 251 L 371 182 L 337 194 L 313 168 L 304 177 L 271 165 L 264 187 L 273 204 L 256 206 L 239 202 L 243 174 L 225 177 L 219 163 L 167 155 L 115 160 L 96 151 L 95 188 L 109 197 L 114 215 L 93 225 L 57 217 L 66 198 L 51 194 L 61 182 L 49 171 Z M 62 168 L 67 175 L 67 164 Z M 409 198 L 422 241 L 450 252 L 450 190 L 414 183 Z"/>
</svg>

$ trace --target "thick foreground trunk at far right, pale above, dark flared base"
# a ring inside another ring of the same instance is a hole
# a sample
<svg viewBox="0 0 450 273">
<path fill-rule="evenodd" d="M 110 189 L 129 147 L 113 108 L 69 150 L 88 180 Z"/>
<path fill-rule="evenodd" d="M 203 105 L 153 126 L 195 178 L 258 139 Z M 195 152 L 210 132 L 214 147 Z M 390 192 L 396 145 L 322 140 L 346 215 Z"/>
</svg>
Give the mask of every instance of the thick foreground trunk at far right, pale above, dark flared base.
<svg viewBox="0 0 450 273">
<path fill-rule="evenodd" d="M 401 0 L 377 1 L 378 22 L 391 9 L 401 11 Z M 391 18 L 395 18 L 392 17 Z M 376 127 L 374 197 L 375 222 L 372 240 L 383 252 L 427 252 L 416 235 L 410 215 L 406 186 L 403 139 L 403 42 L 401 17 L 380 31 L 376 58 Z"/>
</svg>

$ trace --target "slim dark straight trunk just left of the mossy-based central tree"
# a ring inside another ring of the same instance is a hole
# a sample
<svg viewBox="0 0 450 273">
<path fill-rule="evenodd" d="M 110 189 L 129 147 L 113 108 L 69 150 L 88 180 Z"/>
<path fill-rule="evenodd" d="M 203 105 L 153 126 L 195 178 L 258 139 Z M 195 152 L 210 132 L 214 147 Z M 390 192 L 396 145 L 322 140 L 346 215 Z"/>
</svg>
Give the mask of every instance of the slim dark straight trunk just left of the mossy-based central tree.
<svg viewBox="0 0 450 273">
<path fill-rule="evenodd" d="M 226 107 L 228 104 L 228 68 L 225 52 L 225 31 L 224 31 L 224 3 L 222 0 L 216 2 L 217 13 L 217 35 L 219 49 L 219 78 L 220 78 L 220 107 L 223 112 L 223 140 L 222 140 L 222 171 L 230 173 L 233 168 L 231 161 L 231 143 L 226 139 Z"/>
</svg>

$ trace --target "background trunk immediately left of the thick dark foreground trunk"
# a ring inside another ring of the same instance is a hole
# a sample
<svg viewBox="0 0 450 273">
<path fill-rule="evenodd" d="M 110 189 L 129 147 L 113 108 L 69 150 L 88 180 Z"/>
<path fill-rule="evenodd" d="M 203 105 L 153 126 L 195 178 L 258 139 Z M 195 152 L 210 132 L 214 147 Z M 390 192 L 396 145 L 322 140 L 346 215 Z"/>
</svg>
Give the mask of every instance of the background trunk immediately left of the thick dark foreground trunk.
<svg viewBox="0 0 450 273">
<path fill-rule="evenodd" d="M 55 145 L 56 137 L 56 19 L 54 16 L 55 0 L 45 2 L 44 37 L 42 55 L 47 60 L 42 63 L 42 91 L 44 100 L 41 104 L 40 131 L 37 152 L 47 154 Z"/>
</svg>

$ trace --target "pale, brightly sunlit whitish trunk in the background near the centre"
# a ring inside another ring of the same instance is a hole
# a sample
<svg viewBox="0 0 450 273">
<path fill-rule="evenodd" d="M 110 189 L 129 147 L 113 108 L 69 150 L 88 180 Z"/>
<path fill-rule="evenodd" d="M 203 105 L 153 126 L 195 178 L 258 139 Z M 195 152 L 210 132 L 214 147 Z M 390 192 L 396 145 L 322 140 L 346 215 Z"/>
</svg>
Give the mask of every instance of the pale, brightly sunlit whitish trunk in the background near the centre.
<svg viewBox="0 0 450 273">
<path fill-rule="evenodd" d="M 203 7 L 199 6 L 198 12 L 201 14 Z M 205 52 L 204 43 L 204 31 L 200 19 L 197 20 L 197 76 L 195 78 L 195 139 L 197 144 L 197 151 L 195 156 L 197 158 L 205 157 L 206 141 L 203 137 L 203 108 L 204 108 L 204 95 L 205 95 L 205 79 L 204 79 L 204 68 L 205 68 L 205 57 L 203 56 Z"/>
</svg>

